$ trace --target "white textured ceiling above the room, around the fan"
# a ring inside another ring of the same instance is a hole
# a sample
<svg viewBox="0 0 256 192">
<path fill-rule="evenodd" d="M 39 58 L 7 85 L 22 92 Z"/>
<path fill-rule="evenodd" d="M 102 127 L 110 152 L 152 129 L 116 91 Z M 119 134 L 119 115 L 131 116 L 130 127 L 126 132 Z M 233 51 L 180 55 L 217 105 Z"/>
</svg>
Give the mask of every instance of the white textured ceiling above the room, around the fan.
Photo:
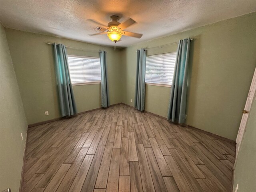
<svg viewBox="0 0 256 192">
<path fill-rule="evenodd" d="M 95 33 L 97 27 L 88 20 L 107 25 L 111 15 L 120 16 L 120 22 L 130 17 L 137 23 L 126 30 L 143 36 L 140 39 L 122 36 L 117 47 L 127 47 L 254 11 L 256 1 L 249 0 L 0 1 L 0 19 L 4 27 L 110 46 L 114 43 L 106 35 L 88 35 Z"/>
</svg>

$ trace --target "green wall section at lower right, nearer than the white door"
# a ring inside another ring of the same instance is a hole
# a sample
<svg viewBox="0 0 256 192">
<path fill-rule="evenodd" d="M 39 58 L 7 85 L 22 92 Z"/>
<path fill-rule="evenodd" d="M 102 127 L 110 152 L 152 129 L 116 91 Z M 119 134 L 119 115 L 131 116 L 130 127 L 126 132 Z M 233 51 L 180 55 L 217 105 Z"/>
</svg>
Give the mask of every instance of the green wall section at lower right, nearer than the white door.
<svg viewBox="0 0 256 192">
<path fill-rule="evenodd" d="M 238 153 L 234 172 L 233 190 L 253 192 L 256 189 L 256 94 L 248 116 L 246 130 Z"/>
</svg>

